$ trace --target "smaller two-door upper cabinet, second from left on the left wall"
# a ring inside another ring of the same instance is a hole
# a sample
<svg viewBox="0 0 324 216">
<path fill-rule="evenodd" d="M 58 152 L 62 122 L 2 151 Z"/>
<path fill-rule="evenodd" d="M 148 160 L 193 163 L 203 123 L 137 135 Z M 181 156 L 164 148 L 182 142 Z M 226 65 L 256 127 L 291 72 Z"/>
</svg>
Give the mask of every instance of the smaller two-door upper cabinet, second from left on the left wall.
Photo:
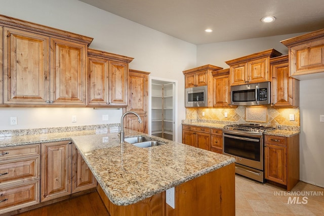
<svg viewBox="0 0 324 216">
<path fill-rule="evenodd" d="M 131 57 L 88 49 L 88 106 L 128 105 Z"/>
</svg>

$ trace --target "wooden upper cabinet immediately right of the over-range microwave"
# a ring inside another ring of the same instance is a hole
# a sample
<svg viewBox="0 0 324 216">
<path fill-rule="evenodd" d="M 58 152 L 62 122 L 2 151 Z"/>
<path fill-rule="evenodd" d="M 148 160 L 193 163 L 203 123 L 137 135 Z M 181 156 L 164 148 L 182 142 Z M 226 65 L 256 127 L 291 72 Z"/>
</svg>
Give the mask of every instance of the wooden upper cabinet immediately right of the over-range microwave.
<svg viewBox="0 0 324 216">
<path fill-rule="evenodd" d="M 289 76 L 288 62 L 288 55 L 270 59 L 271 105 L 273 107 L 299 106 L 299 80 Z"/>
</svg>

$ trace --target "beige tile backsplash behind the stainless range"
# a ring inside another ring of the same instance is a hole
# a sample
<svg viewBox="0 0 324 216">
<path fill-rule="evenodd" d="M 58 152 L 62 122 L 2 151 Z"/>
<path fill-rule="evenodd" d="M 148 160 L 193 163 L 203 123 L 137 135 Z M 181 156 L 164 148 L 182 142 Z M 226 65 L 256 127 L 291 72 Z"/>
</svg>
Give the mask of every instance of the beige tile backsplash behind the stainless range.
<svg viewBox="0 0 324 216">
<path fill-rule="evenodd" d="M 234 121 L 236 123 L 258 123 L 273 127 L 300 126 L 299 108 L 279 108 L 274 109 L 267 106 L 238 106 L 237 108 L 187 108 L 186 119 L 188 120 L 207 120 L 207 121 Z M 248 112 L 248 113 L 246 113 Z M 227 117 L 225 117 L 227 113 Z M 264 116 L 267 114 L 267 116 Z M 295 120 L 290 120 L 290 114 L 294 115 Z M 251 115 L 260 115 L 252 118 Z M 247 119 L 248 116 L 248 119 Z"/>
</svg>

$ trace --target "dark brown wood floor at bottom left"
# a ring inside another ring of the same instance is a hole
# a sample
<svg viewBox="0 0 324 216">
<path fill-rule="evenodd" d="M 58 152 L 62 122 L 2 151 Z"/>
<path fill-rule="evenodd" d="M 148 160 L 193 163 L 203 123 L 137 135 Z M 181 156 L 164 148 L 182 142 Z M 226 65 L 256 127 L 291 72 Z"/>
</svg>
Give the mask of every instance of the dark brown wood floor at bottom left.
<svg viewBox="0 0 324 216">
<path fill-rule="evenodd" d="M 64 200 L 44 207 L 29 210 L 19 216 L 109 216 L 98 192 L 81 195 L 69 200 Z"/>
</svg>

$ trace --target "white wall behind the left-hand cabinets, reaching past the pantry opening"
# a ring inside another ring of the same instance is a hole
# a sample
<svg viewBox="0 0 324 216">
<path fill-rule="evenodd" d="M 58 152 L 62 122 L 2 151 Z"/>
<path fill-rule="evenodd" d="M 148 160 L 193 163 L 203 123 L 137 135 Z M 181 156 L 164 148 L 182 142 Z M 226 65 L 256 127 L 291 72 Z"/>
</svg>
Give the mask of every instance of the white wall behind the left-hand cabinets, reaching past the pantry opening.
<svg viewBox="0 0 324 216">
<path fill-rule="evenodd" d="M 131 69 L 179 80 L 178 99 L 183 106 L 178 108 L 178 125 L 185 119 L 182 71 L 196 66 L 195 45 L 76 0 L 2 1 L 0 14 L 93 37 L 90 48 L 135 58 Z M 71 122 L 72 113 L 77 115 L 76 123 Z M 101 120 L 105 113 L 108 122 Z M 18 117 L 18 125 L 10 125 L 12 116 Z M 110 109 L 0 108 L 0 129 L 115 123 L 120 116 L 120 110 Z M 181 140 L 181 130 L 178 134 Z"/>
</svg>

